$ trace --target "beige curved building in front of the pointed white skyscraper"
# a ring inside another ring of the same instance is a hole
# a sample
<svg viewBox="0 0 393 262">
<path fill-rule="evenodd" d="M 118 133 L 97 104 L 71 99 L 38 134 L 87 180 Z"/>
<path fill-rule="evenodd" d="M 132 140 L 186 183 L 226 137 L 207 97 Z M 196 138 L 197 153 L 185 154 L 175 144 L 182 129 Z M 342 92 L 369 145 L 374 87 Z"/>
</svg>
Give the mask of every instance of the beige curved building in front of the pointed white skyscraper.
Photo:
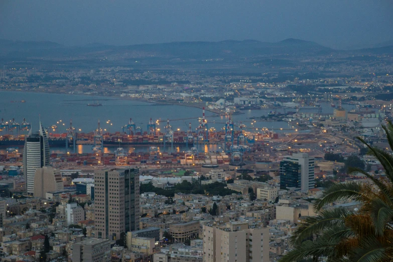
<svg viewBox="0 0 393 262">
<path fill-rule="evenodd" d="M 46 198 L 46 193 L 63 190 L 61 174 L 52 167 L 37 168 L 34 174 L 34 197 Z"/>
</svg>

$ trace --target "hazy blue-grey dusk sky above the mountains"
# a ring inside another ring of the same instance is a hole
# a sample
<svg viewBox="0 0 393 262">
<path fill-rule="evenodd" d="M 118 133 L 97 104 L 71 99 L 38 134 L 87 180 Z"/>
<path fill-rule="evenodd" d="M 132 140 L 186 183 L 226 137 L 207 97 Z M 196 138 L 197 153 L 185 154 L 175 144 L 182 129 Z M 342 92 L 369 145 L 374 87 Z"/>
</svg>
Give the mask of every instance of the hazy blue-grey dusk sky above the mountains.
<svg viewBox="0 0 393 262">
<path fill-rule="evenodd" d="M 130 45 L 298 38 L 329 47 L 393 40 L 391 0 L 0 0 L 0 38 Z"/>
</svg>

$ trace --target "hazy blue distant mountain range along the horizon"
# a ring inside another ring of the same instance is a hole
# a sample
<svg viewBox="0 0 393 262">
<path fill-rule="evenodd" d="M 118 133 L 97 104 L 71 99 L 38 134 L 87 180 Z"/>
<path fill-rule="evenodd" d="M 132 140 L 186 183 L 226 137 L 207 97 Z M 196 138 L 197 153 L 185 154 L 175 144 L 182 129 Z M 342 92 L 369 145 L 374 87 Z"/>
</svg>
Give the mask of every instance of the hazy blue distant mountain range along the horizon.
<svg viewBox="0 0 393 262">
<path fill-rule="evenodd" d="M 299 39 L 269 43 L 256 40 L 220 42 L 172 42 L 111 46 L 99 43 L 85 46 L 64 46 L 54 42 L 25 42 L 0 39 L 0 56 L 8 58 L 64 58 L 111 56 L 112 59 L 239 59 L 277 55 L 323 55 L 336 52 L 380 54 L 393 52 L 393 41 L 370 48 L 342 51 L 331 49 L 315 42 Z"/>
</svg>

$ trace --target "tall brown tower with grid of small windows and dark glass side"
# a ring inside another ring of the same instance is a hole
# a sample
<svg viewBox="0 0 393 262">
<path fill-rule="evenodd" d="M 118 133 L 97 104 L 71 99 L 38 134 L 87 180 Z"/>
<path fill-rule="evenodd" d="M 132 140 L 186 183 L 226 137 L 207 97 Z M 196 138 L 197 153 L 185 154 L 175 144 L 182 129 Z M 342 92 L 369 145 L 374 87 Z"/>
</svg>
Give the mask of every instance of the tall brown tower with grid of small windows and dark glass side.
<svg viewBox="0 0 393 262">
<path fill-rule="evenodd" d="M 94 216 L 98 238 L 116 240 L 139 229 L 139 169 L 94 173 Z"/>
</svg>

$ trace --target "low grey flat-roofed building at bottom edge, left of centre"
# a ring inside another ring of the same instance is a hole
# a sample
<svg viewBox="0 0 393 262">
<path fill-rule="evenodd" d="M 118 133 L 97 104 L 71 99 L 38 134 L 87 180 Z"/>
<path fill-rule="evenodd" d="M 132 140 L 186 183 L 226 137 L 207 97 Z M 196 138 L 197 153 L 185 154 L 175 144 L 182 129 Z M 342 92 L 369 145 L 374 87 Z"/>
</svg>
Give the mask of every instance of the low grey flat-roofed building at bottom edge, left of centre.
<svg viewBox="0 0 393 262">
<path fill-rule="evenodd" d="M 73 262 L 109 262 L 110 241 L 108 239 L 86 239 L 72 245 Z"/>
</svg>

